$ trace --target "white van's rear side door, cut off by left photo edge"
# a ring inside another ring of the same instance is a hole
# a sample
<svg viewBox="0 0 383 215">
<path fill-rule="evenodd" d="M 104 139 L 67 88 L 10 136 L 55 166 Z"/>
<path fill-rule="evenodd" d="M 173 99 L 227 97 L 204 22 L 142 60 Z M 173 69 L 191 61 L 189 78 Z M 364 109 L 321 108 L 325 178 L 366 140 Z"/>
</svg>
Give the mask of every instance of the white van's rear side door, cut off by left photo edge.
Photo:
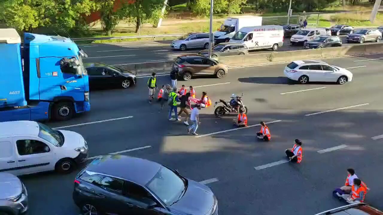
<svg viewBox="0 0 383 215">
<path fill-rule="evenodd" d="M 17 174 L 15 145 L 12 139 L 0 139 L 0 172 Z"/>
</svg>

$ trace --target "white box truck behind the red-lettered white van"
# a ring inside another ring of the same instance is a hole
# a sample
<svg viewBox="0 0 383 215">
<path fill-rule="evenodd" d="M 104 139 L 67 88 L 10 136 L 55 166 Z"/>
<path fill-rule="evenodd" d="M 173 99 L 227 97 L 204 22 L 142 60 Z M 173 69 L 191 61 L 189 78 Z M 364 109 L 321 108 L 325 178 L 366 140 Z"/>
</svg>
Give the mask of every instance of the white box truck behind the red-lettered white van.
<svg viewBox="0 0 383 215">
<path fill-rule="evenodd" d="M 218 31 L 213 33 L 214 42 L 229 42 L 237 31 L 247 26 L 262 25 L 262 16 L 232 16 L 228 17 Z"/>
</svg>

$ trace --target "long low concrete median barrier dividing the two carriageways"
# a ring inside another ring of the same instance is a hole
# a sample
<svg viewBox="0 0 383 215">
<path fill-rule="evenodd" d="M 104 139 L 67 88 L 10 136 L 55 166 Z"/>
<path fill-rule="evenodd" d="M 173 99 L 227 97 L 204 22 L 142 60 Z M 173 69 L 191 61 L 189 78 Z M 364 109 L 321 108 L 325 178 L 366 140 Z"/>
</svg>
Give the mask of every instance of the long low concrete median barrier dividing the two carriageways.
<svg viewBox="0 0 383 215">
<path fill-rule="evenodd" d="M 302 49 L 282 52 L 268 52 L 251 55 L 235 55 L 220 57 L 219 62 L 228 67 L 241 67 L 257 64 L 268 64 L 277 62 L 289 62 L 293 60 L 321 59 L 327 57 L 341 57 L 358 54 L 372 54 L 383 52 L 383 43 L 357 44 L 355 46 L 331 47 L 324 49 Z M 137 74 L 151 72 L 170 72 L 173 61 L 149 62 L 138 64 L 124 64 L 123 68 L 134 70 Z"/>
</svg>

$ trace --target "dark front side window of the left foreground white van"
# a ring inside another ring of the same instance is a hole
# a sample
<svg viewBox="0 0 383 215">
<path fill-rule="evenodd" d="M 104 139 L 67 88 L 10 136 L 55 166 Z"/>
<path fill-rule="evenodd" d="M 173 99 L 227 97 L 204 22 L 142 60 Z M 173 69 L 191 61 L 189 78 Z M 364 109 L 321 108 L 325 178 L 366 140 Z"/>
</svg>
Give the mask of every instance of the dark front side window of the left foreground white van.
<svg viewBox="0 0 383 215">
<path fill-rule="evenodd" d="M 49 152 L 49 147 L 38 140 L 17 140 L 17 152 L 19 155 L 33 155 Z"/>
</svg>

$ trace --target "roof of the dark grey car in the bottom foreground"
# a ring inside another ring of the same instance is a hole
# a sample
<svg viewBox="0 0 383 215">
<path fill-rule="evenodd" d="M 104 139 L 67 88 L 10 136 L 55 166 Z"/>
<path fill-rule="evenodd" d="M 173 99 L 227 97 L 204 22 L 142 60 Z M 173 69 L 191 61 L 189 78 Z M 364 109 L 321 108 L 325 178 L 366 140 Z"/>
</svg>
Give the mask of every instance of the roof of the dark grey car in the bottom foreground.
<svg viewBox="0 0 383 215">
<path fill-rule="evenodd" d="M 114 176 L 145 186 L 162 167 L 153 161 L 125 155 L 103 155 L 85 170 Z"/>
</svg>

